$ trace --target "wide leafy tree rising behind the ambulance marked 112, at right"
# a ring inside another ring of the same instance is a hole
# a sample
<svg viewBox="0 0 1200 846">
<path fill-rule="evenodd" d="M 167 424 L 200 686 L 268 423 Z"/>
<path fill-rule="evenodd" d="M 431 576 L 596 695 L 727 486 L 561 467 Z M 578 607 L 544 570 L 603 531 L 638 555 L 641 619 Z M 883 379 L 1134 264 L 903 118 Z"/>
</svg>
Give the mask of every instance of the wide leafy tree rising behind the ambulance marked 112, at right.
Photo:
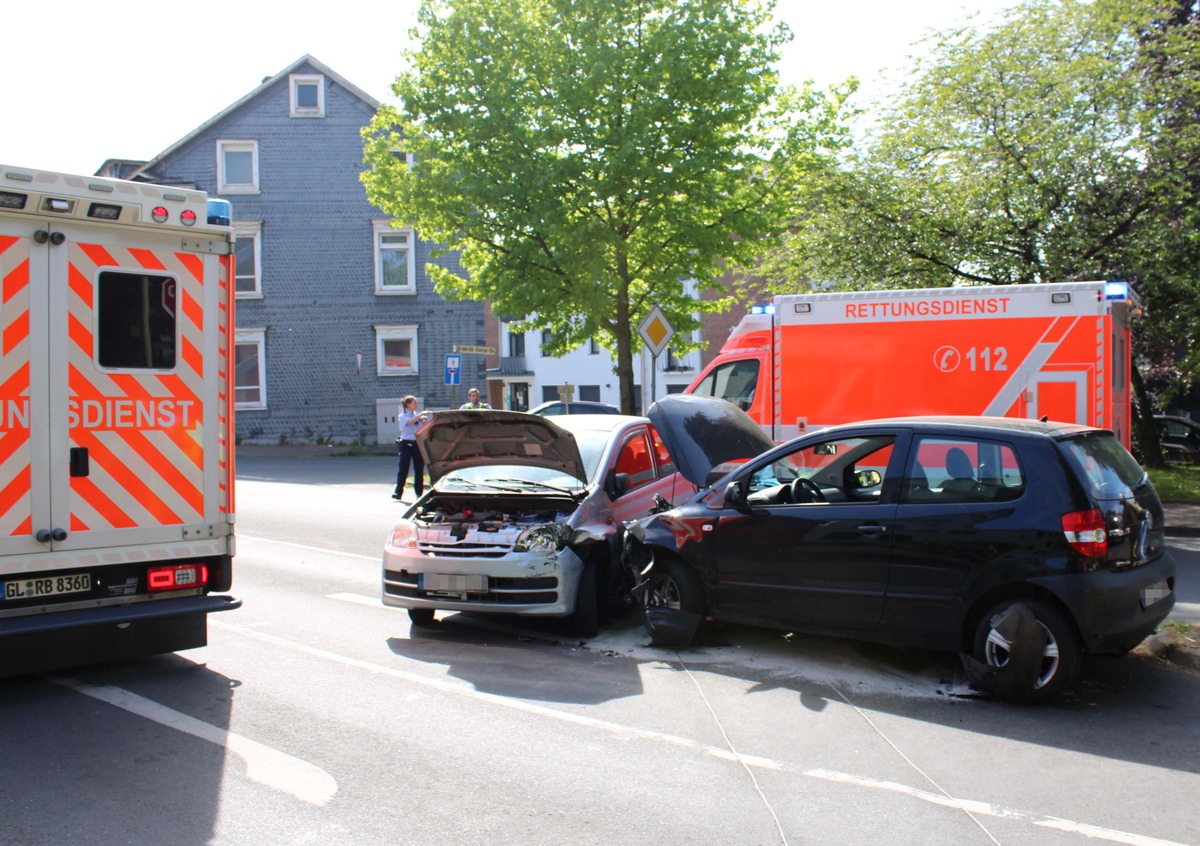
<svg viewBox="0 0 1200 846">
<path fill-rule="evenodd" d="M 1139 360 L 1182 374 L 1200 299 L 1198 44 L 1186 0 L 1030 0 L 941 34 L 844 167 L 812 182 L 767 275 L 848 288 L 1123 278 L 1153 314 Z M 1157 436 L 1139 433 L 1153 462 Z"/>
</svg>

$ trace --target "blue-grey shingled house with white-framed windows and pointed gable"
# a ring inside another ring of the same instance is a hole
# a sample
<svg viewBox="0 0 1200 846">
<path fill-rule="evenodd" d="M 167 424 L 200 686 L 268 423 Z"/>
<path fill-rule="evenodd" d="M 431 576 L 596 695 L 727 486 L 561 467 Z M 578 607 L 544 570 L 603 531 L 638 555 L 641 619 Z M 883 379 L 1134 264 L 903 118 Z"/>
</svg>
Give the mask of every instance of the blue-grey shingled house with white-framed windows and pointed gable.
<svg viewBox="0 0 1200 846">
<path fill-rule="evenodd" d="M 233 204 L 236 434 L 248 443 L 391 443 L 400 398 L 448 408 L 484 385 L 484 305 L 448 301 L 426 265 L 455 256 L 366 198 L 361 130 L 379 103 L 302 56 L 149 162 L 102 175 L 191 185 Z"/>
</svg>

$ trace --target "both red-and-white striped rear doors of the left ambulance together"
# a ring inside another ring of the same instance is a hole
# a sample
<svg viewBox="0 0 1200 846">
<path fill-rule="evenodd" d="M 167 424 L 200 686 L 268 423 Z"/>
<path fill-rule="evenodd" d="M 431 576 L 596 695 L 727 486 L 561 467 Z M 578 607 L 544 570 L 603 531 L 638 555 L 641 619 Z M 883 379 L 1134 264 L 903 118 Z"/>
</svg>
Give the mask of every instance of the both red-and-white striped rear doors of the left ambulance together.
<svg viewBox="0 0 1200 846">
<path fill-rule="evenodd" d="M 178 230 L 0 220 L 0 554 L 157 545 L 169 558 L 169 541 L 227 532 L 221 409 L 204 401 L 222 392 L 204 320 L 222 247 L 186 245 Z"/>
</svg>

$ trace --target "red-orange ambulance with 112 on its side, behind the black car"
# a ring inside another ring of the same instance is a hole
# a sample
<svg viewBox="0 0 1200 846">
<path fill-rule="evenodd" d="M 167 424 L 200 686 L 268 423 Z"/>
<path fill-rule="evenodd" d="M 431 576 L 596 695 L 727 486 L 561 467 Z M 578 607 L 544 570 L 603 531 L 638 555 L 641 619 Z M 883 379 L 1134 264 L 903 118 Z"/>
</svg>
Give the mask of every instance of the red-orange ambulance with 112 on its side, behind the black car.
<svg viewBox="0 0 1200 846">
<path fill-rule="evenodd" d="M 1127 283 L 787 294 L 734 326 L 688 386 L 740 406 L 776 442 L 894 415 L 1048 418 L 1128 449 Z"/>
</svg>

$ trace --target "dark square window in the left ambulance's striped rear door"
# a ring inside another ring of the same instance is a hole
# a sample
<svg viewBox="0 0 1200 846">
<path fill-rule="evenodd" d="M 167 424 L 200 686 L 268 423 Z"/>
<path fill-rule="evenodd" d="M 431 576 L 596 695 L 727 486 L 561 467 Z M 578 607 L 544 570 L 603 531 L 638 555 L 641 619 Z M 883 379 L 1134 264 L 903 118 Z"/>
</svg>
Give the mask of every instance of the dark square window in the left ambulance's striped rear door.
<svg viewBox="0 0 1200 846">
<path fill-rule="evenodd" d="M 112 368 L 175 366 L 175 280 L 107 270 L 96 286 L 97 364 Z"/>
</svg>

